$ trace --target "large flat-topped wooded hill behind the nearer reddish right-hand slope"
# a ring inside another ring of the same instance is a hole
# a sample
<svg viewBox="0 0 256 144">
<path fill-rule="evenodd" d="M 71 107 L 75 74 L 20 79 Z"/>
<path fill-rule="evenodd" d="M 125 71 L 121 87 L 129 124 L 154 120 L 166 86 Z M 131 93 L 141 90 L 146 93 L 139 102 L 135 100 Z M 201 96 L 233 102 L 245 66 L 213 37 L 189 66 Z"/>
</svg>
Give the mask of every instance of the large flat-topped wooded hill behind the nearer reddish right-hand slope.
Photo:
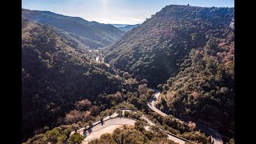
<svg viewBox="0 0 256 144">
<path fill-rule="evenodd" d="M 166 6 L 108 47 L 105 60 L 157 86 L 178 73 L 192 49 L 226 38 L 232 18 L 234 8 Z"/>
</svg>

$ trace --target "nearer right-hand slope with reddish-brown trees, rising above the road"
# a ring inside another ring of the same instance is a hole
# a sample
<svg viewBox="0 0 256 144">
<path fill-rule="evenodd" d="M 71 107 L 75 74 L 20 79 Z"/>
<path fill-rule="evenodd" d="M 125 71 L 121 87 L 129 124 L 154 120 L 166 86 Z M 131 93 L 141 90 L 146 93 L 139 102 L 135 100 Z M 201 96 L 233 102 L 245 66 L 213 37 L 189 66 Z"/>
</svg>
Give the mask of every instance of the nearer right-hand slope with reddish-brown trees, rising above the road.
<svg viewBox="0 0 256 144">
<path fill-rule="evenodd" d="M 162 86 L 159 107 L 176 117 L 192 118 L 219 131 L 234 131 L 234 32 L 210 38 L 193 49 L 180 72 Z M 159 86 L 161 87 L 161 86 Z"/>
</svg>

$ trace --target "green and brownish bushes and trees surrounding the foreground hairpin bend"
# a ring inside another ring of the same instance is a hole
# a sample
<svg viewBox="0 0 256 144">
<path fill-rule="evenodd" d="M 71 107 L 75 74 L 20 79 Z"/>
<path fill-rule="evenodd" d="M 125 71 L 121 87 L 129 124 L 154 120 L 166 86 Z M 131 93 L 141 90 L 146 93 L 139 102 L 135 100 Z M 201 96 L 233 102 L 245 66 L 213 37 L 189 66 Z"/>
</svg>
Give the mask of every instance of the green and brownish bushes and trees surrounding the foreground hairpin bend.
<svg viewBox="0 0 256 144">
<path fill-rule="evenodd" d="M 95 117 L 93 115 L 88 114 L 89 112 L 88 107 L 91 106 L 90 102 L 88 102 L 87 100 L 76 102 L 75 108 L 74 108 L 75 110 L 70 110 L 70 113 L 66 114 L 65 126 L 64 125 L 58 126 L 58 127 L 55 127 L 53 130 L 49 130 L 49 128 L 46 129 L 44 127 L 45 130 L 48 130 L 46 131 L 46 133 L 37 134 L 33 138 L 29 138 L 25 143 L 30 144 L 33 142 L 53 142 L 51 139 L 49 139 L 49 137 L 47 137 L 47 134 L 52 134 L 53 133 L 52 131 L 56 132 L 56 130 L 59 131 L 59 134 L 57 134 L 56 136 L 54 132 L 53 137 L 55 139 L 58 139 L 58 137 L 64 137 L 62 136 L 62 134 L 66 134 L 65 138 L 66 140 L 68 140 L 70 138 L 69 134 L 72 130 L 78 130 L 78 128 L 90 126 L 91 122 L 94 121 L 95 119 L 101 119 L 102 117 L 109 116 L 113 114 L 114 111 L 117 111 L 117 112 L 120 111 L 120 108 L 130 108 L 132 110 L 149 111 L 148 106 L 146 106 L 146 102 L 144 102 L 144 100 L 139 100 L 139 99 L 148 97 L 150 95 L 149 94 L 150 91 L 151 90 L 148 90 L 145 86 L 139 86 L 138 91 L 134 91 L 133 93 L 128 92 L 126 94 L 123 94 L 123 93 L 108 94 L 106 97 L 102 97 L 103 99 L 105 99 L 105 101 L 102 100 L 102 103 L 107 103 L 108 101 L 110 101 L 109 103 L 112 107 L 110 109 L 102 110 L 101 112 L 98 111 L 98 114 Z M 111 99 L 108 99 L 108 98 L 111 98 Z M 138 99 L 138 102 L 136 102 L 137 99 Z M 136 104 L 138 108 L 134 106 L 134 104 L 132 104 L 131 102 Z M 98 106 L 98 107 L 101 107 L 101 106 Z M 97 109 L 95 107 L 93 109 L 90 108 L 90 111 L 92 112 L 92 114 L 93 114 L 93 110 L 97 110 Z M 195 128 L 191 128 L 191 126 L 188 124 L 185 124 L 185 123 L 180 124 L 179 122 L 176 122 L 172 116 L 162 117 L 161 115 L 155 112 L 154 113 L 149 112 L 149 113 L 146 113 L 146 115 L 148 115 L 153 122 L 157 123 L 159 126 L 164 127 L 164 129 L 166 129 L 172 134 L 177 134 L 181 137 L 187 138 L 190 141 L 194 141 L 194 142 L 206 143 L 210 141 L 209 139 L 210 137 L 207 138 L 205 134 L 200 133 Z M 146 122 L 145 120 L 142 119 L 142 114 L 126 111 L 122 116 L 134 118 L 139 121 Z M 170 140 L 166 140 L 166 134 L 162 133 L 161 130 L 158 130 L 157 127 L 153 127 L 153 129 L 150 131 L 145 130 L 144 129 L 145 124 L 143 124 L 142 122 L 136 122 L 134 126 L 136 130 L 133 130 L 133 131 L 142 132 L 142 133 L 136 132 L 136 135 L 138 133 L 138 141 L 140 141 L 142 137 L 143 141 L 145 142 L 150 142 L 150 141 L 171 142 Z M 155 131 L 157 131 L 157 133 L 155 133 Z M 127 134 L 130 134 L 130 130 L 122 133 L 121 135 L 119 134 L 119 136 L 127 135 Z M 104 139 L 100 138 L 98 140 L 94 140 L 93 142 L 103 142 L 103 141 Z"/>
</svg>

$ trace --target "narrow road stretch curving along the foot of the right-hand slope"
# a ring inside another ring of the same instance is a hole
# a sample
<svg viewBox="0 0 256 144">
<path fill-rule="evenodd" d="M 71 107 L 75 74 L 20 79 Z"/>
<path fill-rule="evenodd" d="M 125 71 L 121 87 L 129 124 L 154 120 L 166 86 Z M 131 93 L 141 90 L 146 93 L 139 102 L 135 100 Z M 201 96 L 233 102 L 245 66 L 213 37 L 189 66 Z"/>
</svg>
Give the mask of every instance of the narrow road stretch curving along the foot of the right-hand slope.
<svg viewBox="0 0 256 144">
<path fill-rule="evenodd" d="M 152 98 L 151 102 L 148 102 L 148 106 L 150 107 L 151 110 L 154 110 L 154 112 L 157 112 L 158 114 L 161 114 L 162 116 L 166 116 L 167 114 L 163 113 L 161 110 L 158 110 L 158 108 L 155 107 L 155 102 L 157 101 L 160 92 L 158 90 L 154 90 L 156 93 L 154 94 L 154 98 Z M 180 119 L 176 118 L 178 122 L 182 122 Z M 201 123 L 195 122 L 197 125 L 197 128 L 199 130 L 202 130 L 206 134 L 210 134 L 210 137 L 212 139 L 212 143 L 214 144 L 223 144 L 222 138 L 219 136 L 217 131 L 202 125 Z"/>
</svg>

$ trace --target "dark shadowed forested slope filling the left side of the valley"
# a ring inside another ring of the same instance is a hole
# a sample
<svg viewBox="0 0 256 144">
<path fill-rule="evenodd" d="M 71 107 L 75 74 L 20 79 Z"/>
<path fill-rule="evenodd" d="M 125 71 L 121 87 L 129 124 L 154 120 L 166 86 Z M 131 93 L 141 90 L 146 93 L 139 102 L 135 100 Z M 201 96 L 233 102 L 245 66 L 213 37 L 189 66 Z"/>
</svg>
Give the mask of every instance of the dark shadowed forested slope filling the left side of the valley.
<svg viewBox="0 0 256 144">
<path fill-rule="evenodd" d="M 121 78 L 80 51 L 54 27 L 22 18 L 22 137 L 56 126 L 75 102 L 121 89 Z"/>
</svg>

